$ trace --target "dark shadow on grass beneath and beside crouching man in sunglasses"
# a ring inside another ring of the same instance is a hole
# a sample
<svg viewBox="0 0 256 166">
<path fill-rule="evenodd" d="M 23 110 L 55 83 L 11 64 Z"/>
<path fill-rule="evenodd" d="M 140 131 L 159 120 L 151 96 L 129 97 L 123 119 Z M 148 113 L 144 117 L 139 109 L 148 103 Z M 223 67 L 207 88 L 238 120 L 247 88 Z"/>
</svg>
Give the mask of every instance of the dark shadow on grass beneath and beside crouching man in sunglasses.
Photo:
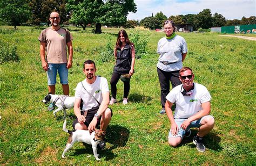
<svg viewBox="0 0 256 166">
<path fill-rule="evenodd" d="M 184 139 L 182 140 L 182 142 L 180 143 L 179 146 L 186 145 L 187 143 L 193 142 L 194 135 L 196 135 L 197 133 L 198 133 L 197 129 L 191 129 L 190 137 L 189 138 L 184 137 Z M 215 151 L 221 151 L 222 150 L 221 146 L 219 145 L 220 138 L 213 131 L 211 131 L 210 133 L 208 133 L 204 137 L 203 142 L 204 142 L 205 147 L 208 148 L 208 149 L 212 149 L 212 150 L 215 150 Z M 196 145 L 194 145 L 193 143 L 190 144 L 189 146 L 191 148 L 196 148 Z"/>
</svg>

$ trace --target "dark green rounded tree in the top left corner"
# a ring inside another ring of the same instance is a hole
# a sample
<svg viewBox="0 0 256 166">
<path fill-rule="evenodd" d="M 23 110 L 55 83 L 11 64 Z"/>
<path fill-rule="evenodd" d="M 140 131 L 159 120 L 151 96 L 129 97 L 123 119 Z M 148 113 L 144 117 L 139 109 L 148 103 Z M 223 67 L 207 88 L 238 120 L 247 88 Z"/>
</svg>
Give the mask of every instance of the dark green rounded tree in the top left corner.
<svg viewBox="0 0 256 166">
<path fill-rule="evenodd" d="M 0 1 L 0 18 L 16 29 L 21 23 L 25 23 L 31 16 L 26 0 Z"/>
</svg>

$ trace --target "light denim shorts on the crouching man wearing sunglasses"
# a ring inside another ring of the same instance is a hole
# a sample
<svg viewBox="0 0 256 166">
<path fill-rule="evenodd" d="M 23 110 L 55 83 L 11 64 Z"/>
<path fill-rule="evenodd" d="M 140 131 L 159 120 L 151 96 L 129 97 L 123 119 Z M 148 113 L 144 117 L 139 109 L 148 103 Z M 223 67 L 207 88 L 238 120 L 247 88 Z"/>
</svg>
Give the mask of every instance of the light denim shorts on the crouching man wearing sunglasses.
<svg viewBox="0 0 256 166">
<path fill-rule="evenodd" d="M 203 121 L 203 120 L 204 120 L 205 118 L 207 118 L 207 117 L 212 117 L 212 118 L 213 118 L 213 116 L 204 116 L 204 117 L 202 117 L 201 119 L 194 120 L 194 121 L 192 121 L 192 122 L 190 123 L 190 125 L 187 127 L 187 130 L 190 129 L 191 127 L 200 127 L 200 126 L 201 126 L 201 121 Z M 176 122 L 176 124 L 177 124 L 178 127 L 179 127 L 179 131 L 178 131 L 178 134 L 177 134 L 177 135 L 172 135 L 172 131 L 171 131 L 171 129 L 170 129 L 168 138 L 181 137 L 181 139 L 183 139 L 183 136 L 184 136 L 184 134 L 185 134 L 186 131 L 185 131 L 184 129 L 180 128 L 180 126 L 181 126 L 181 124 L 182 124 L 185 120 L 187 120 L 187 118 L 185 118 L 185 119 L 178 119 L 178 118 L 175 118 L 175 119 L 174 119 L 174 121 Z"/>
</svg>

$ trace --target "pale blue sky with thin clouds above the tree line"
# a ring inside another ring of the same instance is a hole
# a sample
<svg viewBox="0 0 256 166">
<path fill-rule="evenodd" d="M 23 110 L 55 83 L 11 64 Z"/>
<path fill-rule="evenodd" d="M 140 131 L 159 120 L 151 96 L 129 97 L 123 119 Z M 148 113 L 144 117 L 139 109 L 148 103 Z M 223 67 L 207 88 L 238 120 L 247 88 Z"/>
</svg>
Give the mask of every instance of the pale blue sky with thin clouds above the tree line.
<svg viewBox="0 0 256 166">
<path fill-rule="evenodd" d="M 136 13 L 129 13 L 127 19 L 141 20 L 163 12 L 165 16 L 198 14 L 210 9 L 212 15 L 217 12 L 226 19 L 239 19 L 256 16 L 256 0 L 134 0 Z"/>
</svg>

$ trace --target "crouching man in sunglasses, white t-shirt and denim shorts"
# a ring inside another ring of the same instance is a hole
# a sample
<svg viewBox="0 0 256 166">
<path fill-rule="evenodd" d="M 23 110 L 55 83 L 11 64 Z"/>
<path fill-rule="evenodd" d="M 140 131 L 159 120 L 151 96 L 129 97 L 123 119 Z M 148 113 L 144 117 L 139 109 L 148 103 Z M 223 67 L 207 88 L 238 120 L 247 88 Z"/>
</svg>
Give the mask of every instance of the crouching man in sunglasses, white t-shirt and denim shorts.
<svg viewBox="0 0 256 166">
<path fill-rule="evenodd" d="M 179 71 L 181 85 L 176 86 L 166 96 L 165 110 L 171 122 L 169 145 L 176 147 L 183 140 L 183 136 L 190 136 L 191 127 L 198 127 L 199 132 L 193 138 L 193 143 L 200 152 L 205 151 L 203 137 L 214 126 L 214 118 L 210 116 L 211 95 L 205 86 L 194 83 L 191 68 L 183 67 Z M 176 103 L 174 115 L 171 107 Z"/>
</svg>

